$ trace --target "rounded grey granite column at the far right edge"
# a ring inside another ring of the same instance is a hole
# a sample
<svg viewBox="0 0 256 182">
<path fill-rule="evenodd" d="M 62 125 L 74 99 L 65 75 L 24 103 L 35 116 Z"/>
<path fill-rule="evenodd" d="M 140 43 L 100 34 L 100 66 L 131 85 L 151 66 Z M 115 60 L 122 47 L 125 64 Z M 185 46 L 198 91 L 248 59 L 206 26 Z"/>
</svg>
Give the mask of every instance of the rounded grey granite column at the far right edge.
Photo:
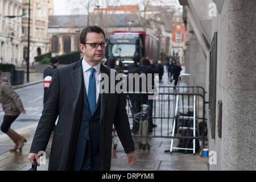
<svg viewBox="0 0 256 182">
<path fill-rule="evenodd" d="M 220 15 L 217 101 L 222 100 L 218 169 L 255 170 L 256 1 L 225 0 Z M 217 113 L 217 112 L 216 112 Z"/>
</svg>

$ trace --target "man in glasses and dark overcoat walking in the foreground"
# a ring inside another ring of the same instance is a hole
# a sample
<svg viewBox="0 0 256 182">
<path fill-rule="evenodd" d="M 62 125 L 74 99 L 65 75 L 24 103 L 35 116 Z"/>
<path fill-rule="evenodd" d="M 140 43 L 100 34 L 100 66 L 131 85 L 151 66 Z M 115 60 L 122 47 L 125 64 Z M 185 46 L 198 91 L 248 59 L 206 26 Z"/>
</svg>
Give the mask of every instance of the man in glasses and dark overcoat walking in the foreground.
<svg viewBox="0 0 256 182">
<path fill-rule="evenodd" d="M 126 152 L 126 163 L 131 166 L 136 154 L 125 94 L 99 92 L 101 76 L 110 78 L 112 72 L 101 64 L 107 46 L 104 31 L 97 26 L 84 28 L 79 46 L 84 57 L 53 72 L 28 159 L 31 163 L 36 159 L 40 166 L 38 152 L 46 150 L 59 115 L 49 170 L 110 170 L 113 124 Z"/>
</svg>

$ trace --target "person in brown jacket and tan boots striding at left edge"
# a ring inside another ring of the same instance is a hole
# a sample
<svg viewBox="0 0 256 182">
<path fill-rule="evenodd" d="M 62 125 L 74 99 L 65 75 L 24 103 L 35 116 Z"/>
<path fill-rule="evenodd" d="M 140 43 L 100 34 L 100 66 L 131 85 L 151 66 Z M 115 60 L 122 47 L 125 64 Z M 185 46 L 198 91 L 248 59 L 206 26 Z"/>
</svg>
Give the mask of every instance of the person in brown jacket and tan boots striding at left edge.
<svg viewBox="0 0 256 182">
<path fill-rule="evenodd" d="M 23 107 L 19 95 L 14 91 L 13 88 L 11 88 L 8 79 L 5 77 L 0 79 L 0 102 L 3 107 L 3 111 L 5 111 L 1 131 L 7 134 L 15 143 L 14 148 L 11 148 L 10 151 L 13 152 L 17 149 L 22 150 L 24 142 L 27 142 L 27 139 L 16 133 L 10 127 L 15 119 L 18 118 L 19 114 L 25 114 L 26 110 Z"/>
</svg>

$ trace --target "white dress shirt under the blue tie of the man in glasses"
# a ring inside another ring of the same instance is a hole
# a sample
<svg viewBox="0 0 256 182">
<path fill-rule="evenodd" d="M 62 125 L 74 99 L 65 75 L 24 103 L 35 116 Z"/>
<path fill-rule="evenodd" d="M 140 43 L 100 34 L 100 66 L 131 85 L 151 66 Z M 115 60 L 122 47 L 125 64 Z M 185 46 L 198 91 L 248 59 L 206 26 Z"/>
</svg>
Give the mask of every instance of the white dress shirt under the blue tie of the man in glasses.
<svg viewBox="0 0 256 182">
<path fill-rule="evenodd" d="M 90 78 L 90 68 L 92 68 L 92 66 L 90 66 L 85 60 L 84 58 L 82 59 L 82 73 L 84 75 L 84 84 L 85 84 L 85 90 L 86 90 L 86 94 L 88 96 L 88 88 L 89 88 L 89 78 Z M 100 82 L 101 82 L 101 63 L 97 64 L 95 67 L 93 67 L 95 69 L 94 71 L 94 77 L 95 77 L 95 82 L 96 82 L 96 103 L 98 101 L 98 96 L 99 96 L 99 92 L 100 92 Z"/>
</svg>

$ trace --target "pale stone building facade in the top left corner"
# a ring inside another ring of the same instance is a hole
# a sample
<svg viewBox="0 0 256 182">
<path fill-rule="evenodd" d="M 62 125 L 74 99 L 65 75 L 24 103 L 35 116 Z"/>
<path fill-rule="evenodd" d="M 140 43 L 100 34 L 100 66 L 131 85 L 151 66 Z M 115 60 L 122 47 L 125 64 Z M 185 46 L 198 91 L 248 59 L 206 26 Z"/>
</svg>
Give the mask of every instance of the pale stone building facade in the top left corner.
<svg viewBox="0 0 256 182">
<path fill-rule="evenodd" d="M 22 15 L 21 0 L 0 1 L 0 63 L 22 62 L 22 18 L 18 17 L 20 15 Z"/>
</svg>

